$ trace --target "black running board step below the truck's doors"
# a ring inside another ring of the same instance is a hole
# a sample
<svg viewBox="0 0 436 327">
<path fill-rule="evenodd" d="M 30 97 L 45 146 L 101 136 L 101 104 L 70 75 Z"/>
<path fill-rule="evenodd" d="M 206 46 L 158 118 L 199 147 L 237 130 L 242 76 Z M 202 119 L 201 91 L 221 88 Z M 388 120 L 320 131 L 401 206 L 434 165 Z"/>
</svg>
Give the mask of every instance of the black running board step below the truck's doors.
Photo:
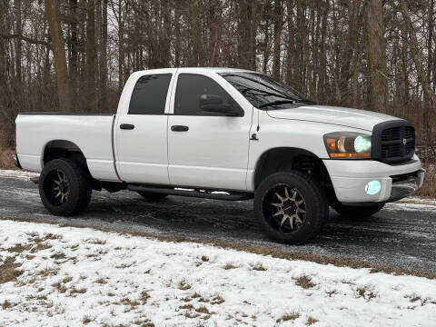
<svg viewBox="0 0 436 327">
<path fill-rule="evenodd" d="M 253 193 L 233 193 L 233 194 L 223 194 L 223 193 L 206 193 L 198 191 L 187 191 L 187 190 L 174 190 L 161 187 L 153 186 L 141 186 L 141 185 L 127 185 L 127 189 L 136 192 L 151 192 L 151 193 L 165 193 L 177 196 L 189 196 L 198 197 L 204 199 L 213 200 L 226 200 L 226 201 L 243 201 L 253 199 Z"/>
</svg>

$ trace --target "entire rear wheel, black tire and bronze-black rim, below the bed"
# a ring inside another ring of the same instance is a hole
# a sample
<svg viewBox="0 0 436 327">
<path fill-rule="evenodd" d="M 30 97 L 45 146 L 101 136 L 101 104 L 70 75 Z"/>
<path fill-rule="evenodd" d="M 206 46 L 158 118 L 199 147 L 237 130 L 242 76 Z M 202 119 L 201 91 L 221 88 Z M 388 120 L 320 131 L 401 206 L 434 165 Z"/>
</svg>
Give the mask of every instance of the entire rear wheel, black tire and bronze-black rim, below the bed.
<svg viewBox="0 0 436 327">
<path fill-rule="evenodd" d="M 83 165 L 64 158 L 45 164 L 39 177 L 39 195 L 50 213 L 81 213 L 91 194 L 91 176 Z"/>
</svg>

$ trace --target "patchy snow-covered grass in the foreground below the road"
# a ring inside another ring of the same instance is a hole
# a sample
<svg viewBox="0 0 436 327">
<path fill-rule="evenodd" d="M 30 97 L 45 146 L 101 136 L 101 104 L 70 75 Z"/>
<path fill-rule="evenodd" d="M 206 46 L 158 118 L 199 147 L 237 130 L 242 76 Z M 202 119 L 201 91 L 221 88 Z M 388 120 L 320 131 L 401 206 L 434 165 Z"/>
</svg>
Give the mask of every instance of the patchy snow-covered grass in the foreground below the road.
<svg viewBox="0 0 436 327">
<path fill-rule="evenodd" d="M 0 221 L 0 326 L 434 326 L 436 281 Z"/>
</svg>

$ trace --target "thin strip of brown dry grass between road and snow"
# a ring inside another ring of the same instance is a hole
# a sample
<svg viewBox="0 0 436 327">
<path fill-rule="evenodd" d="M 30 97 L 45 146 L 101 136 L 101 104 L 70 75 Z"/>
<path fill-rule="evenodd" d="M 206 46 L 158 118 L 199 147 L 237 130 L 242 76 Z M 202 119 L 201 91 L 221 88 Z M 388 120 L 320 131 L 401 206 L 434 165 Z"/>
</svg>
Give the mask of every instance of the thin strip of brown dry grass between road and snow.
<svg viewBox="0 0 436 327">
<path fill-rule="evenodd" d="M 337 267 L 350 267 L 353 269 L 370 268 L 372 269 L 372 272 L 384 272 L 384 273 L 392 273 L 396 275 L 413 275 L 418 277 L 425 277 L 428 279 L 436 279 L 436 272 L 421 272 L 412 269 L 403 269 L 398 267 L 392 267 L 390 265 L 385 265 L 385 264 L 370 263 L 360 259 L 343 258 L 343 257 L 322 255 L 316 253 L 291 252 L 282 249 L 265 247 L 262 245 L 253 245 L 253 244 L 246 244 L 246 243 L 229 243 L 229 242 L 216 241 L 216 240 L 196 239 L 196 238 L 185 237 L 185 236 L 168 236 L 168 235 L 158 235 L 158 234 L 143 233 L 143 232 L 127 232 L 124 230 L 119 230 L 107 226 L 102 227 L 101 225 L 97 225 L 97 224 L 80 226 L 80 225 L 75 225 L 74 223 L 59 224 L 44 219 L 35 221 L 33 219 L 15 218 L 15 217 L 0 217 L 0 220 L 5 220 L 5 221 L 12 220 L 15 222 L 26 222 L 26 223 L 50 223 L 50 224 L 57 225 L 59 227 L 93 228 L 94 230 L 102 231 L 106 233 L 112 232 L 112 233 L 118 233 L 120 235 L 141 236 L 141 237 L 153 238 L 162 242 L 202 243 L 206 245 L 221 247 L 223 249 L 232 249 L 236 251 L 261 254 L 265 256 L 272 256 L 273 258 L 279 258 L 279 259 L 302 260 L 302 261 L 308 261 L 308 262 L 320 263 L 320 264 L 332 264 Z M 228 269 L 233 269 L 233 268 L 237 268 L 237 267 L 233 266 L 233 264 L 230 264 L 230 268 Z"/>
</svg>

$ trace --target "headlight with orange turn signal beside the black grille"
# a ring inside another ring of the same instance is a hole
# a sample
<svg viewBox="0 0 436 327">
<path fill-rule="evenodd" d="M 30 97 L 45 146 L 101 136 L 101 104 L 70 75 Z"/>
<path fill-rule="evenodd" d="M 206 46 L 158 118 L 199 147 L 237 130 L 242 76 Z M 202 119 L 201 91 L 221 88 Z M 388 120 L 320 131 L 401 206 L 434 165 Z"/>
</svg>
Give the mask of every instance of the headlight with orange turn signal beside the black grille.
<svg viewBox="0 0 436 327">
<path fill-rule="evenodd" d="M 331 159 L 370 159 L 371 135 L 354 132 L 335 132 L 324 135 L 324 143 Z"/>
</svg>

